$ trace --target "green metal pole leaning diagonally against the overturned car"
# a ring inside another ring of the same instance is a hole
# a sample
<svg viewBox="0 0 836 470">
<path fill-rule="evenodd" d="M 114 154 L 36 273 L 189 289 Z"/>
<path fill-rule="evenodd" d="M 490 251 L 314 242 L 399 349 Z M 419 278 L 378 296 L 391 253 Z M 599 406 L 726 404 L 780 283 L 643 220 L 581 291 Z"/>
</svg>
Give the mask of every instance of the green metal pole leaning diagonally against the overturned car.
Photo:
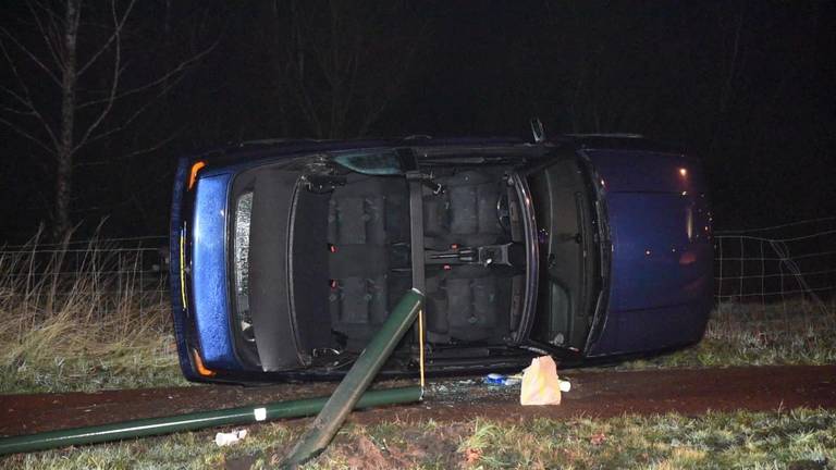
<svg viewBox="0 0 836 470">
<path fill-rule="evenodd" d="M 416 288 L 401 298 L 380 331 L 371 338 L 366 349 L 360 352 L 352 370 L 345 374 L 343 381 L 331 394 L 331 398 L 310 424 L 308 432 L 281 463 L 283 468 L 296 468 L 325 448 L 354 408 L 357 399 L 380 371 L 383 362 L 392 355 L 404 333 L 415 322 L 421 304 L 423 304 L 423 294 Z"/>
</svg>

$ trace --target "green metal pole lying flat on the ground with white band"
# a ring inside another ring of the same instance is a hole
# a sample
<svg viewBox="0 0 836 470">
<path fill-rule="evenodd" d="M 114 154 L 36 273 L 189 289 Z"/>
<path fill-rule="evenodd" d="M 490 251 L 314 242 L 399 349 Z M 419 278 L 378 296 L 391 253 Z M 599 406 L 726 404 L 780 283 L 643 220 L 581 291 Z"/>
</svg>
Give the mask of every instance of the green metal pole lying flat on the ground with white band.
<svg viewBox="0 0 836 470">
<path fill-rule="evenodd" d="M 367 392 L 357 408 L 418 401 L 417 386 Z M 249 424 L 281 418 L 300 418 L 317 413 L 328 397 L 278 401 L 212 411 L 199 411 L 163 418 L 147 418 L 112 424 L 48 431 L 38 434 L 0 438 L 0 455 L 46 450 L 70 445 L 94 444 L 123 438 L 194 431 L 231 424 Z"/>
</svg>

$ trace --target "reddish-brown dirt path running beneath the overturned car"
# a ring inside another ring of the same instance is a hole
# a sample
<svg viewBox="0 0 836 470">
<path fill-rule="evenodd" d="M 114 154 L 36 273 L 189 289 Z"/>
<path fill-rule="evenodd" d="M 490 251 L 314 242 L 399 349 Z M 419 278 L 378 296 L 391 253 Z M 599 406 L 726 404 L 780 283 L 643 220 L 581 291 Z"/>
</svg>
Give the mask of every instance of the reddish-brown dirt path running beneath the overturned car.
<svg viewBox="0 0 836 470">
<path fill-rule="evenodd" d="M 708 410 L 836 408 L 836 366 L 576 371 L 562 376 L 571 382 L 573 388 L 564 395 L 561 406 L 522 407 L 519 406 L 518 387 L 488 386 L 478 378 L 444 379 L 431 381 L 422 403 L 355 412 L 349 421 L 376 424 L 432 419 L 450 423 L 477 417 L 527 420 L 537 417 L 606 418 L 668 411 L 692 416 Z M 377 386 L 411 383 L 386 381 Z M 323 396 L 334 386 L 333 383 L 258 388 L 214 385 L 94 394 L 0 395 L 0 435 Z M 419 450 L 416 444 L 410 452 Z"/>
</svg>

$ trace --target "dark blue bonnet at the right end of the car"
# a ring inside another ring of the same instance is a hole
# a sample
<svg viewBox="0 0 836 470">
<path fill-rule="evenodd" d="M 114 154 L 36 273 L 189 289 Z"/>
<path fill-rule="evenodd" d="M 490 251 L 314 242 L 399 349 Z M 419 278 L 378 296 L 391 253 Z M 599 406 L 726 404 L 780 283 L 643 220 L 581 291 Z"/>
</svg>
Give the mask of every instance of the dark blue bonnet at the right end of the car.
<svg viewBox="0 0 836 470">
<path fill-rule="evenodd" d="M 699 163 L 671 153 L 586 154 L 603 178 L 612 242 L 606 320 L 588 354 L 699 341 L 711 309 L 713 256 Z"/>
</svg>

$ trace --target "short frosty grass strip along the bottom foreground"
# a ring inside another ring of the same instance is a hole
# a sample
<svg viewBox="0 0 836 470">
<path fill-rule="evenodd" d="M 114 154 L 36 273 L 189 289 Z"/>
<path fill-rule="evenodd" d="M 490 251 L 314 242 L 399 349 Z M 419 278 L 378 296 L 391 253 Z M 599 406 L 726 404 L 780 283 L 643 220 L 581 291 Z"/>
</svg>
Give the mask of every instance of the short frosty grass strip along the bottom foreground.
<svg viewBox="0 0 836 470">
<path fill-rule="evenodd" d="M 0 457 L 0 467 L 276 468 L 303 426 L 248 426 L 214 445 L 219 430 Z M 826 469 L 836 461 L 836 413 L 625 415 L 610 419 L 475 419 L 458 423 L 348 424 L 305 469 Z"/>
</svg>

